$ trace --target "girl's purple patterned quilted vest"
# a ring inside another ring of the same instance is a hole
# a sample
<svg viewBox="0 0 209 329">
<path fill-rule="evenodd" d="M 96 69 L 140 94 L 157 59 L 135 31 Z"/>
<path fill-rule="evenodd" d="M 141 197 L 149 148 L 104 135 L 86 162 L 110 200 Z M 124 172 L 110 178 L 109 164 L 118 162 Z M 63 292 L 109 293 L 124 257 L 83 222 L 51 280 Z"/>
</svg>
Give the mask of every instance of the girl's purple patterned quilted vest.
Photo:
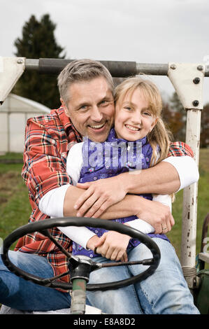
<svg viewBox="0 0 209 329">
<path fill-rule="evenodd" d="M 108 139 L 103 143 L 91 141 L 88 138 L 84 139 L 82 145 L 82 160 L 83 165 L 80 171 L 80 183 L 87 181 L 96 181 L 98 179 L 106 179 L 108 177 L 117 176 L 123 172 L 129 172 L 136 169 L 147 169 L 150 167 L 152 157 L 152 147 L 147 142 L 147 137 L 138 141 L 125 141 L 115 137 L 114 128 L 110 130 Z M 145 199 L 152 200 L 151 194 L 140 194 Z M 117 218 L 113 221 L 118 223 L 126 223 L 136 219 L 136 216 L 126 218 Z M 104 232 L 102 228 L 89 228 L 95 232 L 98 237 L 101 237 Z M 166 235 L 148 234 L 150 237 L 160 237 L 167 239 Z M 140 241 L 131 239 L 127 249 L 138 246 Z M 87 255 L 94 258 L 98 255 L 92 250 L 87 250 L 73 242 L 73 255 Z"/>
</svg>

